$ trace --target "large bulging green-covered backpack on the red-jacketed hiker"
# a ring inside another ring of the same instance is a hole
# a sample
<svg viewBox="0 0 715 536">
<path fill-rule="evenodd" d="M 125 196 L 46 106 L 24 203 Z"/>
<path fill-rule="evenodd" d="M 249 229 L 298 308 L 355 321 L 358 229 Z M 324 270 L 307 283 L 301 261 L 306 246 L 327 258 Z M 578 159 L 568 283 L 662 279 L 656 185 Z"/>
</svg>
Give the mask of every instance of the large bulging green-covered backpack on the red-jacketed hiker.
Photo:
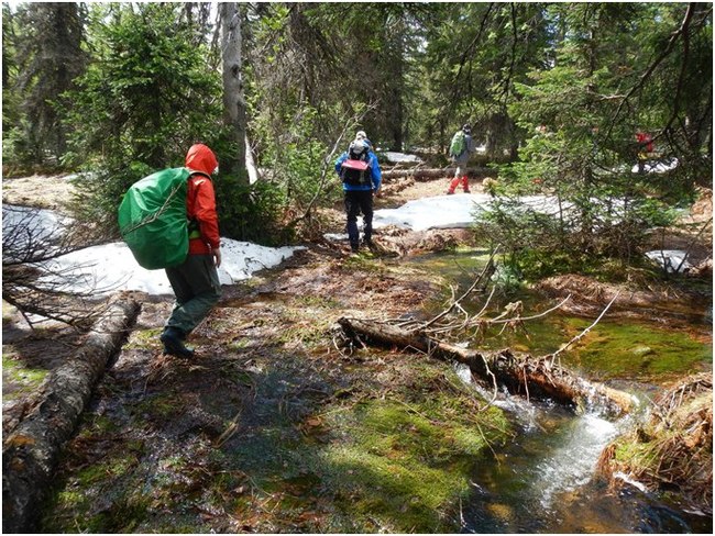
<svg viewBox="0 0 715 536">
<path fill-rule="evenodd" d="M 189 250 L 187 168 L 164 169 L 134 182 L 119 205 L 119 232 L 142 268 L 184 263 Z"/>
</svg>

